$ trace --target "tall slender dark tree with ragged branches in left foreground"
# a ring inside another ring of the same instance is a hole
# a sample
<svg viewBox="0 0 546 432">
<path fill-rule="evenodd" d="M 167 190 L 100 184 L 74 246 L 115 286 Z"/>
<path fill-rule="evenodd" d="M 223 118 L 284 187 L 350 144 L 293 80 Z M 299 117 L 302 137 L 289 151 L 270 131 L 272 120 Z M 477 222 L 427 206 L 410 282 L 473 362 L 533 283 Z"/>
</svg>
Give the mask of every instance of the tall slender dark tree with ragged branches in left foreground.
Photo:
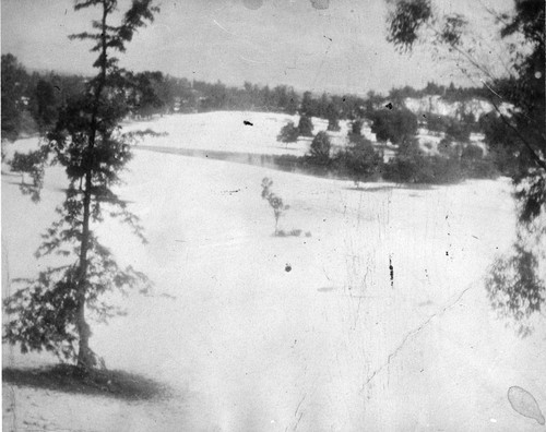
<svg viewBox="0 0 546 432">
<path fill-rule="evenodd" d="M 57 254 L 67 262 L 43 271 L 36 279 L 19 280 L 22 287 L 4 301 L 11 315 L 5 325 L 5 341 L 19 344 L 23 352 L 51 351 L 74 361 L 84 371 L 102 364 L 90 347 L 87 312 L 106 321 L 120 311 L 102 300 L 103 293 L 112 289 L 124 292 L 138 284 L 142 289 L 149 286 L 142 273 L 121 268 L 93 232 L 93 224 L 100 223 L 103 211 L 107 209 L 143 239 L 138 218 L 111 190 L 120 182 L 119 173 L 131 158 L 130 143 L 134 139 L 134 134 L 120 132 L 120 121 L 131 108 L 124 88 L 130 80 L 111 52 L 123 52 L 138 28 L 153 21 L 157 8 L 152 0 L 133 0 L 121 15 L 121 23 L 114 25 L 108 19 L 118 16 L 118 3 L 75 0 L 76 11 L 92 7 L 100 10 L 100 19 L 93 22 L 94 33 L 71 36 L 93 41 L 92 51 L 98 52 L 94 63 L 98 73 L 84 94 L 59 111 L 41 147 L 44 158 L 50 155 L 52 163 L 66 168 L 69 185 L 58 208 L 61 217 L 43 236 L 37 256 Z M 36 192 L 39 193 L 39 184 Z"/>
</svg>

